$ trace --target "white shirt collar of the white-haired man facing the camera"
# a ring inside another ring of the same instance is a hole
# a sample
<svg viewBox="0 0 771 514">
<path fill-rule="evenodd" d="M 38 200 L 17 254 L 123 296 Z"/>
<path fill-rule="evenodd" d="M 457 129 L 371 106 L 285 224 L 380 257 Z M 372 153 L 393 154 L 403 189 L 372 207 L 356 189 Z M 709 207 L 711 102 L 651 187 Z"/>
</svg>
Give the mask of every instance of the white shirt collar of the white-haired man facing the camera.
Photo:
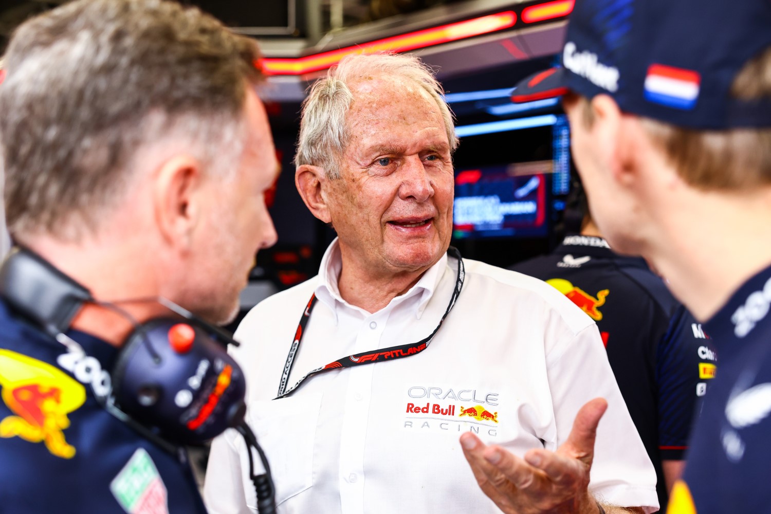
<svg viewBox="0 0 771 514">
<path fill-rule="evenodd" d="M 443 254 L 442 258 L 436 262 L 432 267 L 429 267 L 423 275 L 419 278 L 416 284 L 409 288 L 405 294 L 392 298 L 385 309 L 390 309 L 409 298 L 419 295 L 419 301 L 416 303 L 415 316 L 417 319 L 423 315 L 423 311 L 426 310 L 426 305 L 433 296 L 433 292 L 436 290 L 436 286 L 439 284 L 439 280 L 443 276 L 443 272 L 447 266 L 447 254 Z M 338 289 L 338 277 L 340 276 L 340 270 L 342 270 L 342 257 L 340 255 L 340 245 L 337 238 L 332 241 L 322 257 L 322 264 L 318 270 L 318 284 L 315 288 L 315 295 L 318 301 L 329 307 L 332 314 L 335 316 L 335 324 L 338 322 L 338 308 L 345 307 L 355 311 L 360 311 L 363 314 L 369 316 L 369 313 L 359 307 L 348 304 L 340 296 L 340 290 Z"/>
</svg>

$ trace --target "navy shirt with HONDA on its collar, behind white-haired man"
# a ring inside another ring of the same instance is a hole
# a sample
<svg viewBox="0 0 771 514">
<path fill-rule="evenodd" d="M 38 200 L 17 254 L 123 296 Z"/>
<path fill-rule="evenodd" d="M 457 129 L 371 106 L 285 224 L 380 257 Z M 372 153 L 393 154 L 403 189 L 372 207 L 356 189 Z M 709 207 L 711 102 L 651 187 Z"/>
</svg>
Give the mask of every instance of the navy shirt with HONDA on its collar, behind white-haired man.
<svg viewBox="0 0 771 514">
<path fill-rule="evenodd" d="M 551 254 L 511 269 L 557 287 L 597 323 L 665 512 L 662 460 L 683 459 L 695 408 L 715 376 L 709 331 L 645 260 L 615 254 L 601 237 L 568 235 Z"/>
</svg>

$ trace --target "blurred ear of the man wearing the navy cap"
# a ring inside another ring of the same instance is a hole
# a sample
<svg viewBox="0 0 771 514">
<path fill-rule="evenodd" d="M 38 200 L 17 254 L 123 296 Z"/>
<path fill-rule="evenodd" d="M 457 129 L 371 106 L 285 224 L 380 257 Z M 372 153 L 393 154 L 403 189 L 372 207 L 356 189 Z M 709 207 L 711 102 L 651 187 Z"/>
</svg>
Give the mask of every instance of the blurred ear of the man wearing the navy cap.
<svg viewBox="0 0 771 514">
<path fill-rule="evenodd" d="M 630 144 L 634 136 L 628 130 L 625 114 L 616 101 L 608 95 L 597 95 L 591 99 L 591 114 L 594 118 L 593 136 L 601 143 L 602 159 L 611 175 L 621 183 L 634 178 L 635 166 L 630 166 L 634 152 Z"/>
</svg>

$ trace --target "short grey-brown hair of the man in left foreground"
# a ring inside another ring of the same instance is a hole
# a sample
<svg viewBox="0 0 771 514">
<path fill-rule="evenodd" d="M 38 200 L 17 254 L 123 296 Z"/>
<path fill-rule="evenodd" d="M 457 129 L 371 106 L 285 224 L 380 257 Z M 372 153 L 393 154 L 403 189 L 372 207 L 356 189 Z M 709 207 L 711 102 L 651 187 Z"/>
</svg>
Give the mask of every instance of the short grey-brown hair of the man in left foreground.
<svg viewBox="0 0 771 514">
<path fill-rule="evenodd" d="M 11 232 L 96 233 L 150 151 L 183 145 L 227 175 L 259 56 L 254 40 L 163 0 L 79 0 L 22 24 L 0 86 Z"/>
</svg>

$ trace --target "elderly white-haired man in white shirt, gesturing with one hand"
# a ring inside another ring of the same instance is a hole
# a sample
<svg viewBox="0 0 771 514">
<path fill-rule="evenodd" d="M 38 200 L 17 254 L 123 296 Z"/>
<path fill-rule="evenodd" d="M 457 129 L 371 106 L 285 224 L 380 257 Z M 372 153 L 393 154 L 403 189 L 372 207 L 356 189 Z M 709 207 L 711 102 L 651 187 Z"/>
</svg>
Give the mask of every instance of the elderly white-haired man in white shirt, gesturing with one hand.
<svg viewBox="0 0 771 514">
<path fill-rule="evenodd" d="M 457 144 L 415 58 L 351 56 L 311 88 L 295 181 L 338 238 L 318 276 L 236 333 L 279 512 L 498 512 L 459 438 L 548 463 L 516 512 L 654 511 L 655 473 L 594 321 L 449 247 Z M 247 466 L 237 437 L 215 440 L 211 512 L 254 512 Z"/>
</svg>

